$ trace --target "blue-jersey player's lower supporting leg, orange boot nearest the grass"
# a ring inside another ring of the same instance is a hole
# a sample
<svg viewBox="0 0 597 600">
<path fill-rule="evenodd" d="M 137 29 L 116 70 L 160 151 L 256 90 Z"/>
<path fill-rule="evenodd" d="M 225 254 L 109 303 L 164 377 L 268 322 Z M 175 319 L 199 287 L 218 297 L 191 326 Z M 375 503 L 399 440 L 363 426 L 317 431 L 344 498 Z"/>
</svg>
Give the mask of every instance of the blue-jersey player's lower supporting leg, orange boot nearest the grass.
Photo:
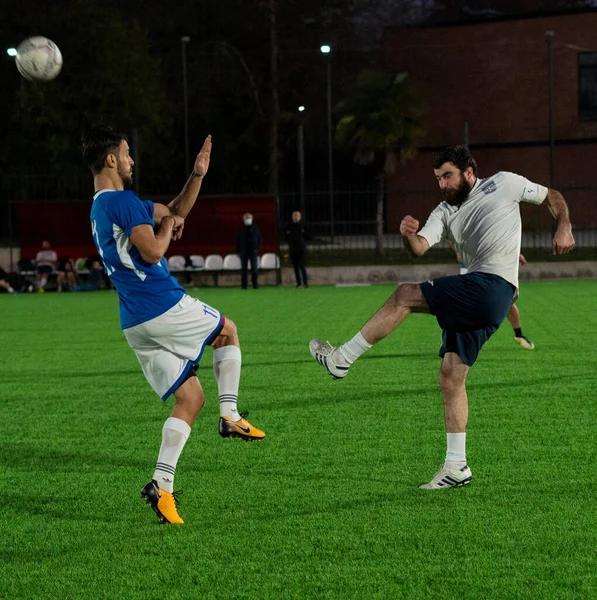
<svg viewBox="0 0 597 600">
<path fill-rule="evenodd" d="M 174 475 L 191 427 L 203 408 L 205 396 L 191 367 L 187 379 L 174 392 L 176 404 L 162 428 L 162 445 L 152 480 L 143 487 L 141 496 L 151 505 L 162 523 L 182 524 L 177 511 Z"/>
</svg>

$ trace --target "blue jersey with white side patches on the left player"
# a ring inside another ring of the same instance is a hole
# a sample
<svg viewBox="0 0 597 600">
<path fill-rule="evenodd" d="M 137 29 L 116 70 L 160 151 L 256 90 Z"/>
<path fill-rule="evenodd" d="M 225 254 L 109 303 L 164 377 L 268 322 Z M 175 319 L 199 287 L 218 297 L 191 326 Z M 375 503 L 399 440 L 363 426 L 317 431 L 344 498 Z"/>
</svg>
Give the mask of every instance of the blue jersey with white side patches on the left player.
<svg viewBox="0 0 597 600">
<path fill-rule="evenodd" d="M 133 227 L 144 223 L 153 227 L 153 211 L 153 202 L 131 191 L 102 190 L 93 197 L 91 232 L 118 292 L 123 329 L 158 317 L 185 294 L 164 258 L 157 265 L 145 262 L 131 243 Z"/>
</svg>

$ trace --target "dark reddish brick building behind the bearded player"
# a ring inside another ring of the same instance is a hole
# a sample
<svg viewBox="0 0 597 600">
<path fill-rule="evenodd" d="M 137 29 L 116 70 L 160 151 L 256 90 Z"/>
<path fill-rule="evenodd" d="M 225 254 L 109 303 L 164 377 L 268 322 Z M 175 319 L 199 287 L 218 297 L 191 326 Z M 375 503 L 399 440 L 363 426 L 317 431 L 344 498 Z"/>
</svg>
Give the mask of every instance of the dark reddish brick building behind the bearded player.
<svg viewBox="0 0 597 600">
<path fill-rule="evenodd" d="M 465 141 L 481 175 L 513 171 L 551 185 L 575 228 L 597 229 L 596 11 L 390 29 L 383 63 L 407 71 L 427 105 L 419 155 L 388 182 L 389 232 L 437 205 L 433 158 Z M 523 207 L 523 219 L 527 231 L 551 228 L 544 210 Z"/>
</svg>

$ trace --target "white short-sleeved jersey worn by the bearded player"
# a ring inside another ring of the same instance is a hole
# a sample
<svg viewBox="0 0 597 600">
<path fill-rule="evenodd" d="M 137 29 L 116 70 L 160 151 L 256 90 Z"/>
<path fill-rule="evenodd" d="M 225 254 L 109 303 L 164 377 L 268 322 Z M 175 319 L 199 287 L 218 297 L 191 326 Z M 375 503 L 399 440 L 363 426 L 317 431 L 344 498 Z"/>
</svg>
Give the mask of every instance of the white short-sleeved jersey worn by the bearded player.
<svg viewBox="0 0 597 600">
<path fill-rule="evenodd" d="M 442 202 L 418 232 L 429 246 L 450 241 L 469 273 L 494 273 L 518 288 L 522 235 L 519 202 L 541 204 L 547 188 L 501 171 L 477 179 L 460 206 Z"/>
</svg>

